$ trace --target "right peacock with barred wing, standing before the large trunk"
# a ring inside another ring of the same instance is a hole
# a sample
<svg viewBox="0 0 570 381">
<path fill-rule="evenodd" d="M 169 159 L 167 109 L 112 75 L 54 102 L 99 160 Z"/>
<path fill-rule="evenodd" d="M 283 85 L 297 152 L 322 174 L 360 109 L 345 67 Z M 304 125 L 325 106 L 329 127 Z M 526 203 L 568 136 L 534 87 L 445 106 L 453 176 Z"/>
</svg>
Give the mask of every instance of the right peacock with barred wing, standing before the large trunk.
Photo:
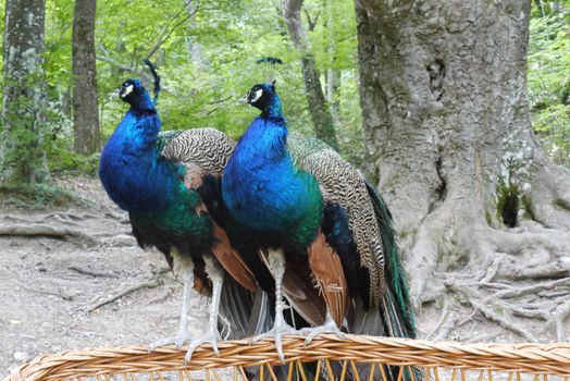
<svg viewBox="0 0 570 381">
<path fill-rule="evenodd" d="M 263 336 L 274 336 L 283 359 L 281 336 L 297 332 L 283 319 L 285 295 L 317 325 L 303 331 L 307 343 L 319 333 L 343 331 L 414 337 L 392 216 L 380 194 L 326 144 L 288 133 L 274 82 L 253 86 L 244 100 L 261 114 L 227 162 L 222 198 L 240 229 L 235 245 L 245 262 L 265 265 L 269 275 L 255 273 L 268 291 L 267 278 L 275 282 L 274 325 Z M 287 292 L 285 280 L 302 273 L 290 274 L 289 263 L 314 279 L 324 311 L 317 302 L 314 314 L 307 312 L 292 297 L 295 292 Z"/>
</svg>

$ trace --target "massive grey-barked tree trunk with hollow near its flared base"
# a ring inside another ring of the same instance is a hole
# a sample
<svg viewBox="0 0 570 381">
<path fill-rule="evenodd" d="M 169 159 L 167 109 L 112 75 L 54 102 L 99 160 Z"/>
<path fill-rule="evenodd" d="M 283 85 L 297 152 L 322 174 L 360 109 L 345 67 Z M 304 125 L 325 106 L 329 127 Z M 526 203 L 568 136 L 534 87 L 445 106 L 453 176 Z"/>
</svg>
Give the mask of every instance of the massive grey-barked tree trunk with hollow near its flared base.
<svg viewBox="0 0 570 381">
<path fill-rule="evenodd" d="M 570 171 L 529 116 L 530 2 L 356 0 L 356 11 L 367 171 L 416 298 L 441 285 L 436 267 L 487 279 L 498 260 L 490 279 L 569 276 Z"/>
</svg>

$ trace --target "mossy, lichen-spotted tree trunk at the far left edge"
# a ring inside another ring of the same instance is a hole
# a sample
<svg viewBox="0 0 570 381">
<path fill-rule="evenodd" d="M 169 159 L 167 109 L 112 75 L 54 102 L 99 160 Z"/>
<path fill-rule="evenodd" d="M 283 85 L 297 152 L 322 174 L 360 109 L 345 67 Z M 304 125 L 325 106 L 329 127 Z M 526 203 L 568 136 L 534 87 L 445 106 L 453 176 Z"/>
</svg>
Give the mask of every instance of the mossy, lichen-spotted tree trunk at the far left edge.
<svg viewBox="0 0 570 381">
<path fill-rule="evenodd" d="M 42 137 L 45 0 L 7 0 L 0 170 L 4 183 L 35 185 L 49 177 Z"/>
</svg>

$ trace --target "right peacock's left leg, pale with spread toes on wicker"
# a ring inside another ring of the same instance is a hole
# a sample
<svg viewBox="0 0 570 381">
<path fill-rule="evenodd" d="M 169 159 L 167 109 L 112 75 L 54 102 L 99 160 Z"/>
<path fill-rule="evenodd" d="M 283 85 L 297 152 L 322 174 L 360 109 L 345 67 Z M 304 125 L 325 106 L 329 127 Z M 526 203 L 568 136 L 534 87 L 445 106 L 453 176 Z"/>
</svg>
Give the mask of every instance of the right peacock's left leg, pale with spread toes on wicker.
<svg viewBox="0 0 570 381">
<path fill-rule="evenodd" d="M 285 362 L 285 355 L 283 353 L 283 335 L 284 334 L 302 334 L 300 331 L 287 324 L 283 318 L 283 308 L 285 303 L 283 300 L 282 282 L 283 274 L 285 273 L 285 254 L 282 249 L 270 249 L 268 250 L 268 258 L 265 260 L 269 271 L 275 279 L 275 321 L 273 328 L 265 333 L 255 336 L 251 339 L 252 342 L 258 342 L 265 337 L 274 337 L 275 346 L 280 359 Z"/>
</svg>

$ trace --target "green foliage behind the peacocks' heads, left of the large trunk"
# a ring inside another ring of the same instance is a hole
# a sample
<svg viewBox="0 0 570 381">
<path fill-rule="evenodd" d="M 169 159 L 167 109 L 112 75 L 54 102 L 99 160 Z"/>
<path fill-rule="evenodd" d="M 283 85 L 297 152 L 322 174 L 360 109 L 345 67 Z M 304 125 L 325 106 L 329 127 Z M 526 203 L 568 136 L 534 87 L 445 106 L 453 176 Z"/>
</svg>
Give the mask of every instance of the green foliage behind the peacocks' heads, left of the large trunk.
<svg viewBox="0 0 570 381">
<path fill-rule="evenodd" d="M 298 52 L 290 42 L 278 4 L 278 1 L 265 0 L 98 1 L 97 78 L 103 143 L 127 109 L 111 97 L 112 93 L 129 77 L 140 77 L 148 88 L 152 87 L 151 76 L 142 63 L 151 51 L 154 51 L 151 60 L 162 77 L 158 109 L 164 130 L 214 127 L 237 138 L 258 111 L 236 101 L 252 85 L 276 78 L 290 128 L 312 135 Z M 314 30 L 308 32 L 308 36 L 323 73 L 323 86 L 327 70 L 340 73 L 340 86 L 332 97 L 339 105 L 340 148 L 349 160 L 360 163 L 364 146 L 354 4 L 349 0 L 307 0 L 305 8 L 313 20 L 320 14 Z M 98 158 L 73 153 L 73 0 L 47 0 L 46 3 L 45 70 L 49 107 L 45 110 L 48 121 L 44 148 L 52 173 L 92 174 Z M 309 29 L 307 24 L 305 28 Z M 157 46 L 160 47 L 154 49 Z M 277 57 L 284 63 L 256 63 L 260 57 L 268 56 Z"/>
</svg>

